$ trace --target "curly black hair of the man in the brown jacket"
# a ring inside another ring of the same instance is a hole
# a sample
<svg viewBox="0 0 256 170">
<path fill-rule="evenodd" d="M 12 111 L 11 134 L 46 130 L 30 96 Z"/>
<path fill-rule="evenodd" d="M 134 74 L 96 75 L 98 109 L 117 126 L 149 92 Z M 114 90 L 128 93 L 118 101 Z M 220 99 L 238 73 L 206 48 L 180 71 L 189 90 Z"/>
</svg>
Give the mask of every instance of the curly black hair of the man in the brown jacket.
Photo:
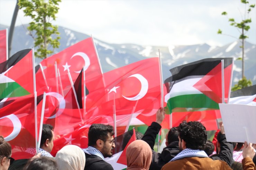
<svg viewBox="0 0 256 170">
<path fill-rule="evenodd" d="M 202 123 L 197 121 L 183 121 L 179 127 L 180 139 L 186 142 L 186 148 L 204 150 L 207 132 Z"/>
</svg>

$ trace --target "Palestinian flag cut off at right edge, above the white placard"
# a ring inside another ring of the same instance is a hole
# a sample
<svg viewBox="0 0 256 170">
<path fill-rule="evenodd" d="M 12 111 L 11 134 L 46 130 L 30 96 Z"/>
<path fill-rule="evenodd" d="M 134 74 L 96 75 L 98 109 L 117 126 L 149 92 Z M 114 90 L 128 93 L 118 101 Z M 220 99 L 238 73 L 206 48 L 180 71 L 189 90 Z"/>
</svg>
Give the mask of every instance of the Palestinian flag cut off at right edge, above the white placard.
<svg viewBox="0 0 256 170">
<path fill-rule="evenodd" d="M 247 104 L 256 106 L 256 84 L 231 92 L 229 104 Z"/>
</svg>

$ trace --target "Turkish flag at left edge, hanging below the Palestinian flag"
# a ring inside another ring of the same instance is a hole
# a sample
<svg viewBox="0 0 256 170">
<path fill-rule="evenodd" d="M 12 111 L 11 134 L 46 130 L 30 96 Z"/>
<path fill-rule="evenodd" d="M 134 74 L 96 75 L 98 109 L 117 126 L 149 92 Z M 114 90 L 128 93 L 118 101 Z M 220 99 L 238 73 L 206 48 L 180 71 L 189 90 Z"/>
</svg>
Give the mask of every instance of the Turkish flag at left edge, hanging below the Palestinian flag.
<svg viewBox="0 0 256 170">
<path fill-rule="evenodd" d="M 0 134 L 11 144 L 14 159 L 35 155 L 34 108 L 34 94 L 30 94 L 0 109 Z"/>
</svg>

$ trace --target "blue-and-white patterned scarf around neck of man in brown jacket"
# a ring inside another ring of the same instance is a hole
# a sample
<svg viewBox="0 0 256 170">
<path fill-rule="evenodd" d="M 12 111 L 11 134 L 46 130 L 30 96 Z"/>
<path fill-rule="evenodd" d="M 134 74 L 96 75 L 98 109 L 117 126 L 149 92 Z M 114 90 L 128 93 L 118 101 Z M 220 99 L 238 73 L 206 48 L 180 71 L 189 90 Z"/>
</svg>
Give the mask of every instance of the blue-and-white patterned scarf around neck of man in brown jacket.
<svg viewBox="0 0 256 170">
<path fill-rule="evenodd" d="M 184 149 L 179 154 L 177 154 L 171 161 L 188 158 L 188 157 L 208 157 L 203 150 L 193 150 L 193 149 Z"/>
</svg>

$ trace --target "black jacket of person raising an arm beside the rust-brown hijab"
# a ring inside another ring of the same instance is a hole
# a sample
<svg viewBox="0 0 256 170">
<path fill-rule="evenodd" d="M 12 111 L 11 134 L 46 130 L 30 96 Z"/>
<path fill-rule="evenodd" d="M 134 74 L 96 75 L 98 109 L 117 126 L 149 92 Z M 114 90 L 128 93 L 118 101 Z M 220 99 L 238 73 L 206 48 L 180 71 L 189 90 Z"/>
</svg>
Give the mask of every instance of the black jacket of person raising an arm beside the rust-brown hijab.
<svg viewBox="0 0 256 170">
<path fill-rule="evenodd" d="M 179 152 L 179 141 L 170 143 L 166 148 L 163 149 L 162 153 L 158 153 L 154 151 L 154 145 L 156 140 L 156 135 L 161 129 L 161 125 L 152 122 L 151 125 L 147 128 L 143 138 L 147 142 L 152 149 L 152 162 L 150 164 L 149 170 L 161 170 L 161 168 L 169 162 L 172 158 L 174 158 Z"/>
</svg>

